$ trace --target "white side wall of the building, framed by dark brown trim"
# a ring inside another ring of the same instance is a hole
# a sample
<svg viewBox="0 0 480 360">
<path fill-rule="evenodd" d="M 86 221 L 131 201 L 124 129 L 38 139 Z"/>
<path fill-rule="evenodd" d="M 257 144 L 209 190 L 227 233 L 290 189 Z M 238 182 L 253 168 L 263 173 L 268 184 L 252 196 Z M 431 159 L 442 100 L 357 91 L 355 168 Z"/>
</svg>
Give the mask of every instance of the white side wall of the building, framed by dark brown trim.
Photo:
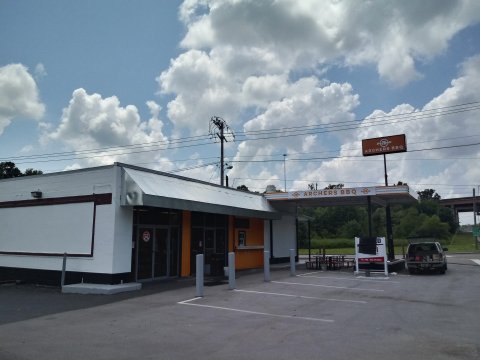
<svg viewBox="0 0 480 360">
<path fill-rule="evenodd" d="M 0 201 L 31 200 L 31 191 L 40 190 L 43 199 L 66 196 L 116 193 L 116 173 L 118 167 L 103 167 L 88 171 L 74 171 L 42 176 L 24 177 L 0 181 Z M 67 270 L 81 272 L 115 273 L 114 254 L 123 251 L 116 247 L 116 213 L 118 201 L 111 205 L 97 205 L 95 216 L 95 236 L 93 257 L 69 258 Z M 0 209 L 11 220 L 18 221 L 10 226 L 0 226 L 0 251 L 31 253 L 90 253 L 94 205 L 92 202 L 79 204 L 41 205 Z M 121 211 L 122 212 L 122 211 Z M 1 214 L 0 214 L 1 215 Z M 2 220 L 0 220 L 1 222 Z M 42 225 L 43 224 L 43 225 Z M 1 225 L 1 224 L 0 224 Z M 118 225 L 119 233 L 128 232 L 131 237 L 131 221 Z M 38 231 L 37 231 L 38 230 Z M 12 233 L 21 238 L 15 241 Z M 124 243 L 127 235 L 122 235 Z M 115 251 L 114 251 L 115 249 Z M 131 249 L 130 249 L 131 251 Z M 130 253 L 131 254 L 131 253 Z M 130 256 L 123 254 L 124 257 Z M 119 256 L 121 259 L 121 256 Z M 130 258 L 127 264 L 119 266 L 121 260 L 115 260 L 116 268 L 130 271 Z M 29 269 L 61 270 L 61 256 L 11 255 L 0 254 L 0 266 Z M 128 268 L 128 269 L 127 269 Z"/>
</svg>

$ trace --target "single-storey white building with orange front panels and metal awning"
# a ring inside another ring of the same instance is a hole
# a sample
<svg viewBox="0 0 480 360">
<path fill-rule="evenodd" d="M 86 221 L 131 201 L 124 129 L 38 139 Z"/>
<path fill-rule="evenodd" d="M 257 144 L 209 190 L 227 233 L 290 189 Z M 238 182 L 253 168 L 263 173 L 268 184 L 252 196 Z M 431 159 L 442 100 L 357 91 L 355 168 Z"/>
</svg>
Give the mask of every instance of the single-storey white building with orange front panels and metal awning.
<svg viewBox="0 0 480 360">
<path fill-rule="evenodd" d="M 291 208 L 290 208 L 291 210 Z M 116 163 L 0 180 L 0 281 L 59 284 L 218 274 L 296 248 L 295 213 L 264 196 Z"/>
</svg>

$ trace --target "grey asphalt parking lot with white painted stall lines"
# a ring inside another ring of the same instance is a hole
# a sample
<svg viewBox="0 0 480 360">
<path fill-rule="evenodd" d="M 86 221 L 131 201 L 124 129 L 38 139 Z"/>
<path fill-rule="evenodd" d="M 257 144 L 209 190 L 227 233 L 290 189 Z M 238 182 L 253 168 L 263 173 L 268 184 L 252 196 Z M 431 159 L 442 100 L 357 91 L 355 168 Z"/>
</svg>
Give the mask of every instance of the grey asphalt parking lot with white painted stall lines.
<svg viewBox="0 0 480 360">
<path fill-rule="evenodd" d="M 139 292 L 0 287 L 0 359 L 479 359 L 480 255 L 446 275 L 288 268 Z"/>
</svg>

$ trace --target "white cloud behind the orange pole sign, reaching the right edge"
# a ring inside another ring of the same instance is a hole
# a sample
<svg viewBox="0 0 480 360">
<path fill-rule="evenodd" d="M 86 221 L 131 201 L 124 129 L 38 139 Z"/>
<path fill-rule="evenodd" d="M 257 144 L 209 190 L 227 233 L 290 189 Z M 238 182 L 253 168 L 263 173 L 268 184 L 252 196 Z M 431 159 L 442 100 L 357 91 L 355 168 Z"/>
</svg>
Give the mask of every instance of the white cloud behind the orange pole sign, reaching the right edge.
<svg viewBox="0 0 480 360">
<path fill-rule="evenodd" d="M 468 59 L 461 67 L 459 76 L 451 82 L 451 86 L 433 98 L 421 109 L 411 105 L 398 105 L 389 112 L 376 110 L 360 124 L 357 131 L 345 134 L 342 139 L 340 156 L 361 155 L 361 140 L 394 134 L 406 134 L 410 152 L 387 156 L 389 184 L 397 181 L 412 184 L 415 190 L 435 188 L 442 197 L 454 195 L 466 196 L 465 191 L 478 183 L 480 171 L 472 166 L 480 158 L 478 146 L 435 149 L 452 145 L 476 143 L 478 138 L 478 110 L 455 111 L 459 104 L 478 101 L 480 93 L 480 56 Z M 442 109 L 432 111 L 433 109 Z M 446 114 L 452 110 L 452 114 Z M 402 119 L 399 114 L 408 114 Z M 425 115 L 428 114 L 428 117 Z M 385 116 L 382 119 L 382 116 Z M 362 126 L 368 121 L 388 122 L 388 126 Z M 350 135 L 350 140 L 347 135 Z M 354 150 L 352 150 L 354 149 Z M 419 149 L 432 149 L 414 152 Z M 463 159 L 462 159 L 463 158 Z M 415 160 L 416 159 L 416 160 Z M 429 160 L 431 159 L 431 160 Z M 475 160 L 477 159 L 477 160 Z M 366 170 L 368 169 L 368 170 Z M 383 184 L 383 157 L 360 159 L 338 158 L 324 161 L 320 166 L 307 167 L 296 177 L 297 179 L 318 179 L 321 185 L 326 180 L 336 179 L 339 182 L 357 185 Z M 443 187 L 442 184 L 449 184 Z M 470 185 L 469 185 L 470 184 Z M 465 185 L 464 187 L 452 187 Z M 355 186 L 355 185 L 353 185 Z M 304 188 L 303 182 L 296 182 L 293 187 Z"/>
</svg>

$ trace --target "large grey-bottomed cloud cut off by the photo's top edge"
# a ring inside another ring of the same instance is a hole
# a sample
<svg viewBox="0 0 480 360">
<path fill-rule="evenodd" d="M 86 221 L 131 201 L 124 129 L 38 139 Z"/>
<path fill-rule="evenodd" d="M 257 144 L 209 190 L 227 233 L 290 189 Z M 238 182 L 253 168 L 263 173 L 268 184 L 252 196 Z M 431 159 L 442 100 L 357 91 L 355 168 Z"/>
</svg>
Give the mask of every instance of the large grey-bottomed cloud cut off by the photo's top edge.
<svg viewBox="0 0 480 360">
<path fill-rule="evenodd" d="M 284 69 L 339 62 L 375 64 L 404 85 L 420 75 L 416 62 L 441 54 L 460 30 L 480 21 L 475 0 L 186 1 L 187 49 L 262 49 Z"/>
</svg>

